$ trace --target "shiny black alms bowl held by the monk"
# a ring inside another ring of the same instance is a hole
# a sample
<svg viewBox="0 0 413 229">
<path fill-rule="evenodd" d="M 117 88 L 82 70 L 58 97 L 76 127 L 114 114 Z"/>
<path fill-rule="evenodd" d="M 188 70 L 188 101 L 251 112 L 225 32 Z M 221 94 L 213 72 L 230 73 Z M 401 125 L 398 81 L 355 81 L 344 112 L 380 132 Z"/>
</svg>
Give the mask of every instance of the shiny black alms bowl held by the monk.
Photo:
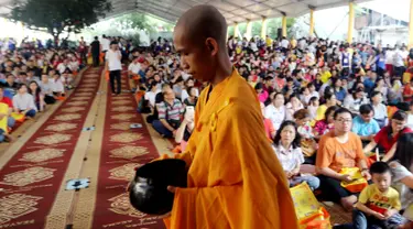
<svg viewBox="0 0 413 229">
<path fill-rule="evenodd" d="M 169 185 L 186 187 L 186 163 L 182 160 L 166 159 L 154 161 L 137 170 L 130 186 L 131 205 L 149 215 L 164 215 L 172 210 L 174 194 Z"/>
</svg>

